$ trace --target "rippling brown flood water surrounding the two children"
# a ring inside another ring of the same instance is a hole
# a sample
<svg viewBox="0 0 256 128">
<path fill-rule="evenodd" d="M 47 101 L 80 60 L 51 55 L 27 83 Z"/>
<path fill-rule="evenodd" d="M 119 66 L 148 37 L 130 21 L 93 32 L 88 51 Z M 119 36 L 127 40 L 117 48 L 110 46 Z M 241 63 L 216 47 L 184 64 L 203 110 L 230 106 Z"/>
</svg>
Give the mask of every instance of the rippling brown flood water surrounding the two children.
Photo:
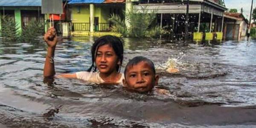
<svg viewBox="0 0 256 128">
<path fill-rule="evenodd" d="M 58 43 L 57 74 L 86 70 L 94 38 Z M 76 79 L 43 78 L 44 41 L 0 41 L 0 127 L 256 127 L 256 41 L 215 44 L 124 38 L 124 62 L 143 55 L 170 96 L 131 93 Z M 168 64 L 179 73 L 167 73 Z"/>
</svg>

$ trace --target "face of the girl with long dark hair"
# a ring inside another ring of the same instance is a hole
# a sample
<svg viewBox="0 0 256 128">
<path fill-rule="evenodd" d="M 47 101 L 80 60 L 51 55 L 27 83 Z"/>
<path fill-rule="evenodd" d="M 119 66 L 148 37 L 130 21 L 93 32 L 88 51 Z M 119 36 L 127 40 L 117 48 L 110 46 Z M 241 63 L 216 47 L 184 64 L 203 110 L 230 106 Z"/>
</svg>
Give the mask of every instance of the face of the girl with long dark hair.
<svg viewBox="0 0 256 128">
<path fill-rule="evenodd" d="M 95 63 L 100 73 L 112 73 L 116 71 L 116 67 L 120 64 L 120 61 L 114 49 L 110 45 L 105 44 L 99 47 L 96 53 Z"/>
</svg>

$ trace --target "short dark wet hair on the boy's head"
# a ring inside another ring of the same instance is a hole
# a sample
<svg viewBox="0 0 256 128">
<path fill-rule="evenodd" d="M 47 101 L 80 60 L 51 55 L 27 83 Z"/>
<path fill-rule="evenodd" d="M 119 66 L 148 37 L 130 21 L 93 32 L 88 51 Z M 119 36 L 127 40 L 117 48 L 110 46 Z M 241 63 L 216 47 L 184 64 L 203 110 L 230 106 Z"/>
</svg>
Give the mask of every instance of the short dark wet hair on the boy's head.
<svg viewBox="0 0 256 128">
<path fill-rule="evenodd" d="M 134 66 L 134 65 L 136 65 L 136 64 L 139 64 L 139 63 L 142 62 L 142 61 L 148 63 L 149 66 L 150 66 L 150 69 L 153 71 L 154 74 L 156 74 L 156 70 L 155 70 L 155 67 L 154 67 L 154 63 L 153 63 L 150 59 L 148 59 L 148 58 L 146 58 L 146 57 L 144 57 L 144 56 L 136 56 L 136 57 L 132 58 L 132 59 L 128 62 L 128 64 L 125 66 L 125 72 L 124 72 L 124 74 L 126 74 L 126 72 L 127 72 L 127 70 L 128 70 L 129 67 Z"/>
</svg>

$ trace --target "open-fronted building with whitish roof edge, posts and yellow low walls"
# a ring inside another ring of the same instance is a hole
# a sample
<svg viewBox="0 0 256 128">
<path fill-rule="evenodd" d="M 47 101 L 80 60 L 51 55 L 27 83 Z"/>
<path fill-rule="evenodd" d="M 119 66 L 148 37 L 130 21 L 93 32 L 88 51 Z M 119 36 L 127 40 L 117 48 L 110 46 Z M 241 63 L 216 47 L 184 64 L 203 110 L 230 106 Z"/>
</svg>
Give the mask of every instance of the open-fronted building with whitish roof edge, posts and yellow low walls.
<svg viewBox="0 0 256 128">
<path fill-rule="evenodd" d="M 171 28 L 170 38 L 183 40 L 186 0 L 136 0 L 133 3 L 137 12 L 147 9 L 157 13 L 159 25 Z M 225 10 L 227 8 L 222 0 L 190 0 L 189 38 L 212 40 L 215 33 L 218 39 L 222 39 Z"/>
</svg>

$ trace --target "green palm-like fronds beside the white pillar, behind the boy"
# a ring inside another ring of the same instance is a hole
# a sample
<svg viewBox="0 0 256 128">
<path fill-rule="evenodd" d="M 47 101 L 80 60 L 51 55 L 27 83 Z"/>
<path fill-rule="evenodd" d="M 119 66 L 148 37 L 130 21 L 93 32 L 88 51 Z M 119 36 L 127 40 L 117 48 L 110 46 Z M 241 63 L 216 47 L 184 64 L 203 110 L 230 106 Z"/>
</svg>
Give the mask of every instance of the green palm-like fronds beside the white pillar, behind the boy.
<svg viewBox="0 0 256 128">
<path fill-rule="evenodd" d="M 136 38 L 157 38 L 163 34 L 163 29 L 156 25 L 156 13 L 148 12 L 146 8 L 142 7 L 140 12 L 132 10 L 125 15 L 125 19 L 130 26 L 127 26 L 125 19 L 122 19 L 119 15 L 111 15 L 109 21 L 113 23 L 111 27 L 113 32 L 119 32 L 124 37 Z"/>
</svg>

